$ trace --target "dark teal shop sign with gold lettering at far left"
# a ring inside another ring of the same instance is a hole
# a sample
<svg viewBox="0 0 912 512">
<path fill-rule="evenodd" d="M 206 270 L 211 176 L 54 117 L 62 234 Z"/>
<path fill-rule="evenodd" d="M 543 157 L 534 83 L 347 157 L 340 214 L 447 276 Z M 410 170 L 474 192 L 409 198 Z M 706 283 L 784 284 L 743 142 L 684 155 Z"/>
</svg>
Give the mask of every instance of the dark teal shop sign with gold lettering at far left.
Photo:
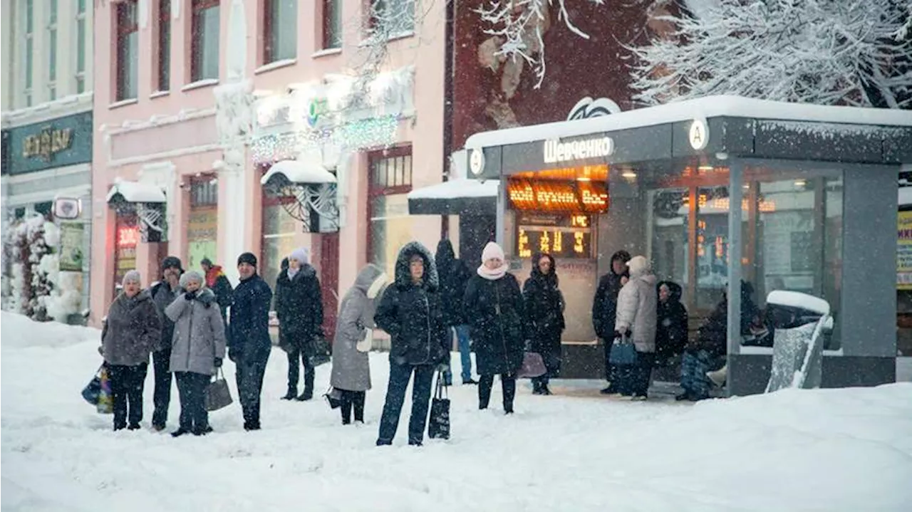
<svg viewBox="0 0 912 512">
<path fill-rule="evenodd" d="M 23 174 L 92 161 L 92 113 L 9 130 L 9 173 Z"/>
</svg>

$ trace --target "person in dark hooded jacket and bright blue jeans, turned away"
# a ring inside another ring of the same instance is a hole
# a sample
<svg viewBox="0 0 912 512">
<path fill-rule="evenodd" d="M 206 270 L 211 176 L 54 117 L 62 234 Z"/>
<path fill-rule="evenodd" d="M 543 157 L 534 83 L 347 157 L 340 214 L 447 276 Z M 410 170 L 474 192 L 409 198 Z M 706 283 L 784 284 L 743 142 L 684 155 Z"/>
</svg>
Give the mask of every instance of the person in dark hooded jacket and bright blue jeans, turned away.
<svg viewBox="0 0 912 512">
<path fill-rule="evenodd" d="M 465 318 L 462 298 L 465 287 L 472 279 L 472 271 L 465 261 L 456 258 L 453 245 L 443 239 L 437 244 L 437 272 L 440 274 L 440 302 L 443 304 L 443 322 L 456 334 L 462 372 L 462 384 L 478 384 L 472 379 L 472 347 L 469 343 L 469 324 Z M 452 382 L 452 374 L 445 375 L 447 384 Z"/>
</svg>

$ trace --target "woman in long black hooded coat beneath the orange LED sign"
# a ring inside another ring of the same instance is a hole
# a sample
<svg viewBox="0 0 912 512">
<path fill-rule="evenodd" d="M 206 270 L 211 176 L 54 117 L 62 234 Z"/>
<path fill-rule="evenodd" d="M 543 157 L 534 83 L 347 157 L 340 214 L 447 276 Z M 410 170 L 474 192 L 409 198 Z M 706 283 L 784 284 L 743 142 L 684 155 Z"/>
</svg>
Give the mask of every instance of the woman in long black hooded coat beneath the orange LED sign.
<svg viewBox="0 0 912 512">
<path fill-rule="evenodd" d="M 549 379 L 561 371 L 561 333 L 564 332 L 564 294 L 558 288 L 554 257 L 532 257 L 532 274 L 523 283 L 526 324 L 532 330 L 530 349 L 544 360 L 547 374 L 532 379 L 533 394 L 551 394 Z"/>
</svg>

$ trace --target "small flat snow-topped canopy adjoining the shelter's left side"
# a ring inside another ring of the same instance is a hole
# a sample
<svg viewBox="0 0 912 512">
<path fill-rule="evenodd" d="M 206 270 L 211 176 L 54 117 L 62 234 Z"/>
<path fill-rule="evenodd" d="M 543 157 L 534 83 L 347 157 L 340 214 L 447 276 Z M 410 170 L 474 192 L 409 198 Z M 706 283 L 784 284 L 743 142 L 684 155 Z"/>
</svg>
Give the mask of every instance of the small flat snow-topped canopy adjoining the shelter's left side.
<svg viewBox="0 0 912 512">
<path fill-rule="evenodd" d="M 410 215 L 495 215 L 499 179 L 451 179 L 409 192 Z"/>
</svg>

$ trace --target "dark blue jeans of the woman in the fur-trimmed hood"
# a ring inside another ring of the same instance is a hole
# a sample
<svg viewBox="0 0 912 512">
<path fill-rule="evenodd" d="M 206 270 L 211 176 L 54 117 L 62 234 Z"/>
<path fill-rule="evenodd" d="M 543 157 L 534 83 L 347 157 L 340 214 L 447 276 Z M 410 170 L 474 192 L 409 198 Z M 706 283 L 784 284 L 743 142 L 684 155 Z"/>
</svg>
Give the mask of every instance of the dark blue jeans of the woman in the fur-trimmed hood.
<svg viewBox="0 0 912 512">
<path fill-rule="evenodd" d="M 378 444 L 389 445 L 396 437 L 399 415 L 405 403 L 406 388 L 411 374 L 415 382 L 411 386 L 411 417 L 409 418 L 409 445 L 419 445 L 424 440 L 424 428 L 428 425 L 430 407 L 430 384 L 434 381 L 435 367 L 432 364 L 389 364 L 389 385 L 387 400 L 380 417 Z"/>
</svg>

